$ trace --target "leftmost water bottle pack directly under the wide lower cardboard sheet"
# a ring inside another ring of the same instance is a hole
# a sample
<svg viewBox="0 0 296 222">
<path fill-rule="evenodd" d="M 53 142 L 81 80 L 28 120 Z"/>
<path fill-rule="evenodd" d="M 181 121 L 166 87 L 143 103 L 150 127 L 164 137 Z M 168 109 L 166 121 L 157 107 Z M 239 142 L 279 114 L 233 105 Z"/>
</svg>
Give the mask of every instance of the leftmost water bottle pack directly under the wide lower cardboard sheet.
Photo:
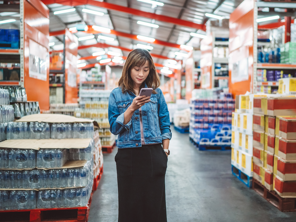
<svg viewBox="0 0 296 222">
<path fill-rule="evenodd" d="M 0 169 L 33 169 L 35 167 L 35 150 L 0 149 Z"/>
</svg>

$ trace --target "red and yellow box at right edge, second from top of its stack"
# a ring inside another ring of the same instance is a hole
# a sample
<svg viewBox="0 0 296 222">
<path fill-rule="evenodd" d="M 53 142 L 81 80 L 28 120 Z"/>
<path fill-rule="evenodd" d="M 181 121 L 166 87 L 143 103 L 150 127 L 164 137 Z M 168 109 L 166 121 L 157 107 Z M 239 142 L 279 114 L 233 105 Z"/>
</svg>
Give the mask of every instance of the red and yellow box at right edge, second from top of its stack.
<svg viewBox="0 0 296 222">
<path fill-rule="evenodd" d="M 285 139 L 296 139 L 296 118 L 293 117 L 280 117 L 279 118 L 279 131 L 280 137 Z"/>
</svg>

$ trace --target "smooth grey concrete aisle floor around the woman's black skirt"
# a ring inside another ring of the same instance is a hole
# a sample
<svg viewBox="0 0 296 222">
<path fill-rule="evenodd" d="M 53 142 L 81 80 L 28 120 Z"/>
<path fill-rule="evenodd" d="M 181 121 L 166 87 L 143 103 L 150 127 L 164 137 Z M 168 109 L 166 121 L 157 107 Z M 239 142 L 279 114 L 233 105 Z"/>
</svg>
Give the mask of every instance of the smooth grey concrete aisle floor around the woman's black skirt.
<svg viewBox="0 0 296 222">
<path fill-rule="evenodd" d="M 168 222 L 296 221 L 296 213 L 282 213 L 231 174 L 231 152 L 199 151 L 188 134 L 171 128 L 165 178 Z M 116 152 L 104 154 L 104 173 L 89 222 L 117 222 Z"/>
</svg>

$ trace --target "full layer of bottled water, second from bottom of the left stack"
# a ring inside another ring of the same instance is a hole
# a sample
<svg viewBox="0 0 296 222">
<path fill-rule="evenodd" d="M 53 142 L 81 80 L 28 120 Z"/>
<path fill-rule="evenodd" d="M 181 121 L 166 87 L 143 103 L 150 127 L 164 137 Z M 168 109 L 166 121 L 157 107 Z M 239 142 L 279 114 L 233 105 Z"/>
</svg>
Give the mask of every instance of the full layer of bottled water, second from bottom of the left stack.
<svg viewBox="0 0 296 222">
<path fill-rule="evenodd" d="M 92 176 L 93 161 L 69 169 L 0 170 L 0 189 L 80 187 L 86 186 Z"/>
</svg>

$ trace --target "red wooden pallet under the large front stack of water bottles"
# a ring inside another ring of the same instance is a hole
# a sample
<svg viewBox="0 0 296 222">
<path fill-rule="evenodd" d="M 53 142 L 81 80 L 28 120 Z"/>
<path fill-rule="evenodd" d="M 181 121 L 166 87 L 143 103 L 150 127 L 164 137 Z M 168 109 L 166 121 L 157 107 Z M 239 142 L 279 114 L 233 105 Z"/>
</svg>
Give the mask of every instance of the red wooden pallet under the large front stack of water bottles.
<svg viewBox="0 0 296 222">
<path fill-rule="evenodd" d="M 87 222 L 90 211 L 90 200 L 85 207 L 68 207 L 68 208 L 49 208 L 49 209 L 32 209 L 32 210 L 1 210 L 1 222 Z"/>
</svg>

